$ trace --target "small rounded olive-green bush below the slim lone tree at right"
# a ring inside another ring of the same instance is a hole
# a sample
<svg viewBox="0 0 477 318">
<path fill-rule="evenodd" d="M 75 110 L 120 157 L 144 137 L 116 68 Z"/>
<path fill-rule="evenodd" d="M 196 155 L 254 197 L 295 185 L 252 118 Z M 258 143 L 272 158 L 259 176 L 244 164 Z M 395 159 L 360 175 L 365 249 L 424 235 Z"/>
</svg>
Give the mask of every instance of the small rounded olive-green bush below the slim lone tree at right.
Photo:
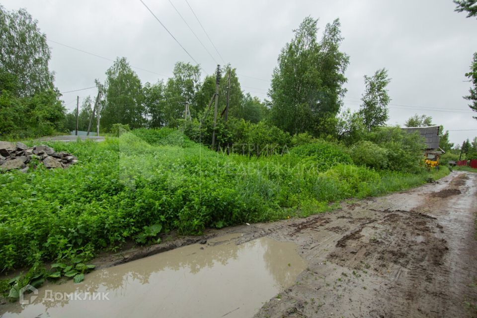
<svg viewBox="0 0 477 318">
<path fill-rule="evenodd" d="M 350 148 L 350 155 L 357 165 L 375 169 L 386 169 L 389 165 L 389 151 L 370 141 L 360 141 Z"/>
</svg>

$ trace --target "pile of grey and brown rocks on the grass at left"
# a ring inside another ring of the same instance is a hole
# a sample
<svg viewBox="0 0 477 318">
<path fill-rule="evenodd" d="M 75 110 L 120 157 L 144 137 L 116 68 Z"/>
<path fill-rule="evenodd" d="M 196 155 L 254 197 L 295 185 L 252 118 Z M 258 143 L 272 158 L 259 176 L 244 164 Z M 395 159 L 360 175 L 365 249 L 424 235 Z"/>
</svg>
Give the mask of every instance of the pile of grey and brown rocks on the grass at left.
<svg viewBox="0 0 477 318">
<path fill-rule="evenodd" d="M 0 141 L 0 171 L 21 169 L 26 172 L 28 163 L 35 167 L 40 162 L 47 168 L 66 168 L 78 162 L 78 158 L 64 151 L 55 152 L 53 148 L 45 145 L 28 148 L 22 143 Z"/>
</svg>

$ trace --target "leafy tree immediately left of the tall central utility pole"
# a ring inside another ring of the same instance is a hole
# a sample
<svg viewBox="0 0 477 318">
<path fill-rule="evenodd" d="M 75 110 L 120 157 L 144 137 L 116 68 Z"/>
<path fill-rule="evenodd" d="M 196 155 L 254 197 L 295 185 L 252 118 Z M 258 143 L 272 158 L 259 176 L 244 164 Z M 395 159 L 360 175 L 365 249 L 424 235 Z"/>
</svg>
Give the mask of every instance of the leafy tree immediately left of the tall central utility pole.
<svg viewBox="0 0 477 318">
<path fill-rule="evenodd" d="M 200 67 L 190 63 L 177 62 L 172 78 L 165 85 L 165 123 L 176 126 L 177 119 L 184 117 L 185 104 L 189 104 L 192 116 L 196 116 L 199 106 L 196 94 L 200 88 Z"/>
</svg>

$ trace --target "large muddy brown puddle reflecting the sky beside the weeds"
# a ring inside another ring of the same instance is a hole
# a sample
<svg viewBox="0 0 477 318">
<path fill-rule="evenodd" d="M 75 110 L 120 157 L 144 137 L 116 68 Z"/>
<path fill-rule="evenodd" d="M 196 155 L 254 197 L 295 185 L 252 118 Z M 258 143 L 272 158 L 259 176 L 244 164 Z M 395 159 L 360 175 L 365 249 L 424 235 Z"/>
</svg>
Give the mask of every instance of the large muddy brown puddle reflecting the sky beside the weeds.
<svg viewBox="0 0 477 318">
<path fill-rule="evenodd" d="M 32 304 L 5 305 L 1 317 L 252 317 L 307 264 L 294 243 L 260 238 L 237 245 L 238 236 L 94 271 L 79 284 L 44 285 Z"/>
</svg>

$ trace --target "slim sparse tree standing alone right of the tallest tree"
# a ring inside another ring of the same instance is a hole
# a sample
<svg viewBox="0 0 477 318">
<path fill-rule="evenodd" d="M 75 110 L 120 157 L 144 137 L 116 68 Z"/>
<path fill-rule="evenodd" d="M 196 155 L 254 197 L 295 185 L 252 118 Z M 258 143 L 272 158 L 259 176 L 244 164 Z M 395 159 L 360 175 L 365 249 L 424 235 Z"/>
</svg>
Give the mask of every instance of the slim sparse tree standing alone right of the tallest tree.
<svg viewBox="0 0 477 318">
<path fill-rule="evenodd" d="M 391 98 L 386 87 L 390 81 L 386 69 L 376 71 L 371 77 L 364 76 L 366 89 L 361 97 L 363 103 L 360 105 L 359 112 L 368 131 L 383 126 L 389 118 L 388 104 Z"/>
</svg>

